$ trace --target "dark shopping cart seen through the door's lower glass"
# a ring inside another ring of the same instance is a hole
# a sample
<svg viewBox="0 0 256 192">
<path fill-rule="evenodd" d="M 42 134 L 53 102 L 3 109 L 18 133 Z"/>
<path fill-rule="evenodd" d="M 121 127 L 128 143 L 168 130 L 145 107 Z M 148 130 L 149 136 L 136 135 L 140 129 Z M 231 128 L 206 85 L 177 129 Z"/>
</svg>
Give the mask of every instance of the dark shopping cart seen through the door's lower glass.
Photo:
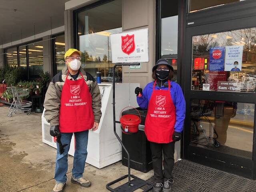
<svg viewBox="0 0 256 192">
<path fill-rule="evenodd" d="M 192 100 L 190 113 L 191 120 L 193 122 L 191 127 L 192 143 L 201 144 L 206 147 L 208 147 L 210 144 L 213 144 L 214 147 L 220 147 L 220 143 L 217 141 L 218 133 L 216 132 L 215 127 L 209 118 L 214 113 L 214 108 L 214 101 L 198 99 Z M 203 128 L 202 119 L 208 122 L 210 126 L 208 131 Z"/>
</svg>

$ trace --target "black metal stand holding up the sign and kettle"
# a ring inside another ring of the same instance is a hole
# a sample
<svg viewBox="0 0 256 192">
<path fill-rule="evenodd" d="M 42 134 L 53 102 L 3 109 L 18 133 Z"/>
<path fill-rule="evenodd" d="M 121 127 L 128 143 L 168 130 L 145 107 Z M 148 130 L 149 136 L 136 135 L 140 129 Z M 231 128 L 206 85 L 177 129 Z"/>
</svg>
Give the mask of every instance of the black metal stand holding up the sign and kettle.
<svg viewBox="0 0 256 192">
<path fill-rule="evenodd" d="M 118 178 L 117 180 L 114 180 L 110 183 L 108 183 L 106 185 L 107 190 L 110 190 L 112 192 L 133 192 L 139 188 L 141 188 L 144 185 L 146 186 L 146 189 L 143 192 L 147 192 L 149 190 L 151 190 L 153 188 L 152 183 L 147 182 L 145 180 L 142 180 L 134 175 L 131 175 L 131 170 L 130 170 L 130 155 L 128 153 L 128 151 L 126 150 L 124 144 L 122 143 L 122 140 L 119 138 L 118 134 L 116 133 L 116 123 L 120 123 L 119 121 L 116 121 L 116 111 L 115 111 L 115 69 L 116 66 L 130 66 L 130 65 L 139 65 L 139 63 L 136 64 L 115 64 L 113 67 L 113 120 L 114 120 L 114 134 L 116 135 L 116 138 L 118 139 L 118 141 L 121 143 L 123 149 L 125 150 L 125 152 L 127 153 L 127 157 L 128 157 L 128 175 L 122 176 L 120 178 Z M 125 184 L 122 184 L 121 186 L 118 186 L 117 188 L 111 188 L 110 186 L 121 181 L 124 180 L 125 178 L 128 177 L 128 182 L 126 182 Z M 131 180 L 131 177 L 133 178 Z"/>
</svg>

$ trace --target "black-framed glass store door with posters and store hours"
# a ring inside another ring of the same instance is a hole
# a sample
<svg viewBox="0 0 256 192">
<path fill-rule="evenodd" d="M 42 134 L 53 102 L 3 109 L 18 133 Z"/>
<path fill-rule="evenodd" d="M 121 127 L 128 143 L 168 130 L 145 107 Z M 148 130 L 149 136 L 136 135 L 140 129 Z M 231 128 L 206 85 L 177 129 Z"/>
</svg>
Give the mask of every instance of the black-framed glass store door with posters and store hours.
<svg viewBox="0 0 256 192">
<path fill-rule="evenodd" d="M 255 178 L 254 17 L 186 29 L 184 158 Z"/>
</svg>

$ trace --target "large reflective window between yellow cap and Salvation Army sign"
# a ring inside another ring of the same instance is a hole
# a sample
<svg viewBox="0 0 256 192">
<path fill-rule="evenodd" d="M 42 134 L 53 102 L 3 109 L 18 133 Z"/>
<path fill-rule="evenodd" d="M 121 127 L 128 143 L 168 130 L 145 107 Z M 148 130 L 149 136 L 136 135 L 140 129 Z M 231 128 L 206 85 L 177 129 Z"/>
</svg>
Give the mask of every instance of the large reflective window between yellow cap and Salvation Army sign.
<svg viewBox="0 0 256 192">
<path fill-rule="evenodd" d="M 122 0 L 114 0 L 77 14 L 77 44 L 82 52 L 82 67 L 102 82 L 112 82 L 113 73 L 110 34 L 122 32 Z M 116 71 L 116 82 L 122 82 L 122 68 Z"/>
</svg>

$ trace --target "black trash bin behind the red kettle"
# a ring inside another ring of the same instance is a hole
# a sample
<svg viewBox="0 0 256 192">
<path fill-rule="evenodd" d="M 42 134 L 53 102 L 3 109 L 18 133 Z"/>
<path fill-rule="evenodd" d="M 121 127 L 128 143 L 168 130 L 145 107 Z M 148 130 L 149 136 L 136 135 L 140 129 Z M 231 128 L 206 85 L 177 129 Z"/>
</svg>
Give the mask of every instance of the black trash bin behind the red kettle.
<svg viewBox="0 0 256 192">
<path fill-rule="evenodd" d="M 146 173 L 153 169 L 150 143 L 144 133 L 147 110 L 141 108 L 136 109 L 141 115 L 141 124 L 139 125 L 138 133 L 124 134 L 122 132 L 122 142 L 130 154 L 131 168 Z M 122 115 L 126 114 L 138 115 L 138 112 L 135 109 L 129 109 L 122 112 Z M 128 158 L 124 150 L 122 150 L 122 164 L 128 166 Z"/>
</svg>

